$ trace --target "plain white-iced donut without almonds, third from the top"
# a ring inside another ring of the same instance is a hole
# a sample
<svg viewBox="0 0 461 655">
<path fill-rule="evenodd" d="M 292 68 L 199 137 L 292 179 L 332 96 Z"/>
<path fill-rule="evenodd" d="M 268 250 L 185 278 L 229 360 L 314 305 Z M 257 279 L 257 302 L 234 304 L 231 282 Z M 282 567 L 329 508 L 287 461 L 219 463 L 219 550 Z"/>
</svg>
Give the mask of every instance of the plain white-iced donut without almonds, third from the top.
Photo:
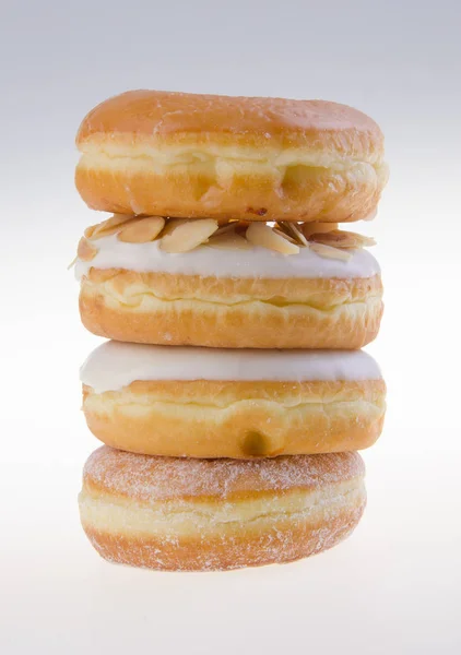
<svg viewBox="0 0 461 655">
<path fill-rule="evenodd" d="M 386 385 L 360 350 L 222 350 L 107 342 L 81 369 L 83 412 L 134 453 L 273 457 L 371 445 Z"/>
</svg>

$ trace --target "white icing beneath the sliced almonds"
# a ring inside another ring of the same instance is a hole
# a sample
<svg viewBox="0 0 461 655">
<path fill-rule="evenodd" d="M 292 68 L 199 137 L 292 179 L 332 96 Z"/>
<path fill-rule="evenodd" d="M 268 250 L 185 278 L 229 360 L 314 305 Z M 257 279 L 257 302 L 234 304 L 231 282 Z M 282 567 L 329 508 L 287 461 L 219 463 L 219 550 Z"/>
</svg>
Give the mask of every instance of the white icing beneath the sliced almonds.
<svg viewBox="0 0 461 655">
<path fill-rule="evenodd" d="M 299 254 L 284 255 L 259 246 L 248 250 L 217 250 L 206 246 L 190 252 L 170 254 L 159 249 L 159 241 L 125 243 L 117 235 L 98 239 L 91 262 L 76 261 L 80 279 L 91 267 L 126 269 L 211 277 L 371 277 L 380 272 L 376 259 L 366 250 L 355 250 L 350 261 L 327 259 L 308 248 Z"/>
</svg>

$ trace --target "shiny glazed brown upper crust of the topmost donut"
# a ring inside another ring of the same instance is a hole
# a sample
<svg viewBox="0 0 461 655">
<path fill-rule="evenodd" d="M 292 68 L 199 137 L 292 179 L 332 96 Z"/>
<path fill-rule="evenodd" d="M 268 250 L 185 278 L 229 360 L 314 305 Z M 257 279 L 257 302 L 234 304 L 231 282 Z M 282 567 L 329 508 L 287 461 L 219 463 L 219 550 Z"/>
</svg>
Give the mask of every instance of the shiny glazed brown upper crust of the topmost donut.
<svg viewBox="0 0 461 655">
<path fill-rule="evenodd" d="M 128 91 L 104 100 L 83 119 L 76 135 L 82 147 L 95 135 L 162 138 L 168 143 L 206 143 L 213 134 L 233 144 L 319 147 L 345 156 L 382 154 L 382 133 L 357 109 L 327 100 L 233 97 L 168 91 Z M 269 134 L 269 136 L 268 136 Z M 357 139 L 357 135 L 359 139 Z M 356 142 L 353 142 L 353 139 Z"/>
</svg>

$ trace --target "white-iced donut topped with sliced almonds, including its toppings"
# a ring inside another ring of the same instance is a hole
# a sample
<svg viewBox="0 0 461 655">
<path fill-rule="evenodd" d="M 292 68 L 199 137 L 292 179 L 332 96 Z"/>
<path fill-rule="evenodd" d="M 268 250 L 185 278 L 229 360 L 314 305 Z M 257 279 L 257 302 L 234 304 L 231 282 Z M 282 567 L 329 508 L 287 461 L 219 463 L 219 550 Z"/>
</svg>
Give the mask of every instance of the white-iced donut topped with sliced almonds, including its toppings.
<svg viewBox="0 0 461 655">
<path fill-rule="evenodd" d="M 382 314 L 369 241 L 306 225 L 317 231 L 113 216 L 79 246 L 82 322 L 93 334 L 133 343 L 362 348 Z"/>
</svg>

